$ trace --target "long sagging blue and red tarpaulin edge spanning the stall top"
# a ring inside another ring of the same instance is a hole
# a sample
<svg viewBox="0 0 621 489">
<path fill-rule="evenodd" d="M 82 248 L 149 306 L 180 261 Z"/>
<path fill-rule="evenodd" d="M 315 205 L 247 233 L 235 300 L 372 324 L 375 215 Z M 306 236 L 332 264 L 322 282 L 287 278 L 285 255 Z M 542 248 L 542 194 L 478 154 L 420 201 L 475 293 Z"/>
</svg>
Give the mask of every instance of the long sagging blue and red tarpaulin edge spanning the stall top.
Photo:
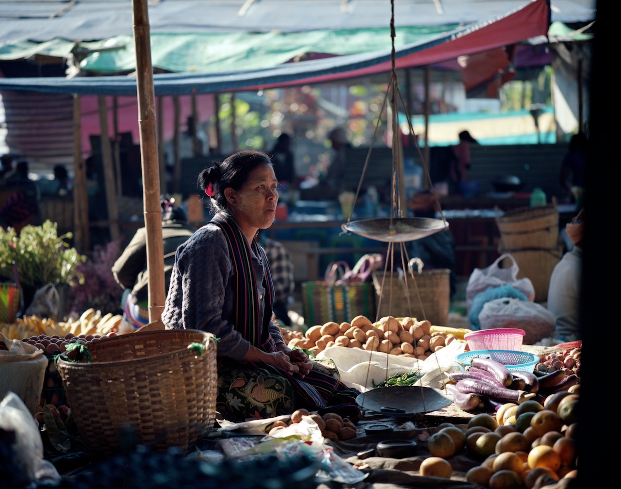
<svg viewBox="0 0 621 489">
<path fill-rule="evenodd" d="M 430 65 L 522 42 L 546 35 L 549 25 L 550 8 L 546 0 L 527 2 L 501 16 L 396 48 L 396 68 Z M 156 96 L 248 91 L 325 83 L 390 70 L 391 51 L 379 50 L 255 70 L 156 74 L 153 86 Z M 136 94 L 136 81 L 128 76 L 5 78 L 0 79 L 0 89 L 130 96 Z"/>
</svg>

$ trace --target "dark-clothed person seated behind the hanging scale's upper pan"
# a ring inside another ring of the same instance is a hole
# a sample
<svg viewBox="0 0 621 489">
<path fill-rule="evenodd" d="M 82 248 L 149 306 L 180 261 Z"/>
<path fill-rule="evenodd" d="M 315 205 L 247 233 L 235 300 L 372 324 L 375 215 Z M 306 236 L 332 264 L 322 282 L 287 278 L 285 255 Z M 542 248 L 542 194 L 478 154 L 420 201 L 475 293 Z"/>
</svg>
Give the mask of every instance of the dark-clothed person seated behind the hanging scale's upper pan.
<svg viewBox="0 0 621 489">
<path fill-rule="evenodd" d="M 415 217 L 435 218 L 438 202 L 433 192 L 416 192 L 407 202 Z M 455 295 L 457 273 L 455 268 L 455 237 L 450 230 L 438 231 L 407 244 L 409 258 L 420 258 L 425 269 L 446 268 L 450 274 L 450 293 Z"/>
</svg>

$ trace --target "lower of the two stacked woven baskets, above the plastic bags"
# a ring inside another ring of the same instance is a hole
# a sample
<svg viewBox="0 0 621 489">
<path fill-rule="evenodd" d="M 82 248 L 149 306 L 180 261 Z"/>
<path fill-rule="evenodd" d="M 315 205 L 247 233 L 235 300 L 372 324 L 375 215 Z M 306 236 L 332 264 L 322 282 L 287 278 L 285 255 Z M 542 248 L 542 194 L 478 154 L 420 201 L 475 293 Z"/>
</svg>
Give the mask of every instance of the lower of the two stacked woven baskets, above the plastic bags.
<svg viewBox="0 0 621 489">
<path fill-rule="evenodd" d="M 535 289 L 535 302 L 548 300 L 548 288 L 550 287 L 550 277 L 556 264 L 563 258 L 563 246 L 557 244 L 553 248 L 547 249 L 512 249 L 503 251 L 501 254 L 510 253 L 515 262 L 520 267 L 517 274 L 518 279 L 528 277 Z M 502 266 L 510 266 L 510 262 L 503 263 Z"/>
</svg>

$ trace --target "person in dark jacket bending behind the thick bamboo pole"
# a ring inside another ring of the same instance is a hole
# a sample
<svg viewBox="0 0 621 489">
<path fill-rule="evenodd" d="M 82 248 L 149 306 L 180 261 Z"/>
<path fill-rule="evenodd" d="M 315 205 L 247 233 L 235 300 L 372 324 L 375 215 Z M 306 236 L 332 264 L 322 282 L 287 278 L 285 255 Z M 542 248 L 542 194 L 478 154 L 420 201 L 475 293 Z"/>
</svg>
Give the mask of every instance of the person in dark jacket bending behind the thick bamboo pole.
<svg viewBox="0 0 621 489">
<path fill-rule="evenodd" d="M 165 291 L 170 284 L 170 273 L 179 244 L 193 235 L 196 228 L 188 224 L 183 209 L 175 207 L 174 200 L 162 199 L 161 234 L 164 240 Z M 147 270 L 147 229 L 140 228 L 112 266 L 112 275 L 125 289 L 121 300 L 123 323 L 127 328 L 140 328 L 149 322 Z"/>
</svg>

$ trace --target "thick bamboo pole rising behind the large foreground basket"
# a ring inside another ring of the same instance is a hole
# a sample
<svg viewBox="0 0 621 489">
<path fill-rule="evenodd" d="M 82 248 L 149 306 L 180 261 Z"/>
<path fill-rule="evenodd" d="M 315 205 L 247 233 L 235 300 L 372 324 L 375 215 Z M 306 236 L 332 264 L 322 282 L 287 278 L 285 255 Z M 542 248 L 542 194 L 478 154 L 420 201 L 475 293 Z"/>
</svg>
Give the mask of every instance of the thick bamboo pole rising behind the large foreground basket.
<svg viewBox="0 0 621 489">
<path fill-rule="evenodd" d="M 155 107 L 153 104 L 155 91 L 153 88 L 147 1 L 132 0 L 132 6 L 134 11 L 142 190 L 145 230 L 147 231 L 149 321 L 154 323 L 160 321 L 161 311 L 166 300 L 164 243 L 161 232 L 160 173 L 158 171 Z"/>
</svg>

